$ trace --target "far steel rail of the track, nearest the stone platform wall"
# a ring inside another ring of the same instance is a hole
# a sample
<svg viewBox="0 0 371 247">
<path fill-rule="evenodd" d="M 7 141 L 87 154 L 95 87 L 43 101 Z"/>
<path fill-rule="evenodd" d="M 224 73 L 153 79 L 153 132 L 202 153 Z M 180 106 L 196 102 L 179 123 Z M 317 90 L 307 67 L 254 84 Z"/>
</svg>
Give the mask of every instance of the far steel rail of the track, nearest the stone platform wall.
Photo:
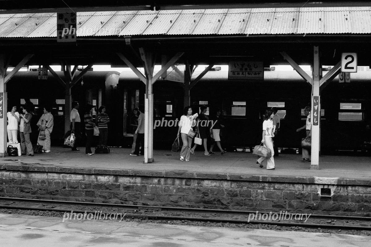
<svg viewBox="0 0 371 247">
<path fill-rule="evenodd" d="M 79 202 L 79 201 L 59 201 L 59 200 L 44 200 L 44 199 L 30 199 L 30 198 L 13 198 L 13 197 L 0 197 L 0 200 L 9 201 L 29 201 L 29 202 L 48 202 L 48 203 L 60 203 L 60 204 L 77 204 L 77 205 L 94 205 L 94 206 L 105 206 L 105 207 L 118 207 L 126 208 L 131 210 L 142 210 L 142 209 L 157 209 L 157 210 L 173 210 L 181 211 L 198 211 L 198 212 L 209 212 L 209 213 L 224 213 L 224 214 L 255 214 L 256 211 L 244 211 L 244 210 L 224 210 L 224 209 L 209 209 L 209 208 L 184 208 L 184 207 L 162 207 L 162 206 L 144 206 L 144 205 L 129 205 L 129 204 L 115 204 L 115 203 L 103 203 L 103 202 Z M 155 210 L 154 210 L 155 211 Z M 287 210 L 281 210 L 285 212 Z M 269 214 L 270 212 L 259 211 L 260 214 Z M 277 213 L 277 212 L 274 212 Z M 288 213 L 295 215 L 297 213 Z M 335 219 L 347 219 L 347 220 L 370 220 L 371 217 L 364 216 L 348 216 L 348 215 L 323 215 L 323 214 L 312 214 L 311 218 L 335 218 Z"/>
</svg>

